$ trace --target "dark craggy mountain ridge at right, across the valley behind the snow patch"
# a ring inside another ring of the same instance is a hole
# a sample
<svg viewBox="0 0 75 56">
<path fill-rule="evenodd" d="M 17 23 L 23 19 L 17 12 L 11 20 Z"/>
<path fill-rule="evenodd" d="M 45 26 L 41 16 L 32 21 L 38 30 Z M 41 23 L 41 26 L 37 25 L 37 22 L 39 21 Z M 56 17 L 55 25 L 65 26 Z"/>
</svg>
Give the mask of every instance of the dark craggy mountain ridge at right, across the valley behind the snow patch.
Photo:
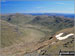
<svg viewBox="0 0 75 56">
<path fill-rule="evenodd" d="M 70 28 L 74 26 L 74 20 L 69 18 L 64 18 L 61 16 L 37 16 L 31 22 L 32 25 L 40 25 L 51 29 L 52 32 L 57 32 L 64 28 Z"/>
</svg>

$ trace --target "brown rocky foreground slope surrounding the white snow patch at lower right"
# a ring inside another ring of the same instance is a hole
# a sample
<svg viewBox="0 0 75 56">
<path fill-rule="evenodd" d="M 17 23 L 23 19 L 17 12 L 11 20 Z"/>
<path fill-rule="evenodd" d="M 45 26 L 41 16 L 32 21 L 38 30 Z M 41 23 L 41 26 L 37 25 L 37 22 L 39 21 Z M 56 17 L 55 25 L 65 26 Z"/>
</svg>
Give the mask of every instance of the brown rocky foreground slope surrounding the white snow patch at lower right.
<svg viewBox="0 0 75 56">
<path fill-rule="evenodd" d="M 60 30 L 55 35 L 62 33 L 62 32 L 64 33 L 62 37 L 69 33 L 74 33 L 74 27 Z M 61 51 L 74 51 L 74 48 L 75 48 L 74 47 L 74 36 L 71 36 L 65 40 L 61 40 L 61 41 L 58 40 L 56 41 L 56 43 L 54 43 L 54 45 L 48 45 L 47 47 L 44 47 L 41 50 L 46 50 L 45 54 L 53 54 L 53 56 L 58 56 L 60 50 Z M 43 52 L 40 52 L 40 54 L 42 53 Z"/>
</svg>

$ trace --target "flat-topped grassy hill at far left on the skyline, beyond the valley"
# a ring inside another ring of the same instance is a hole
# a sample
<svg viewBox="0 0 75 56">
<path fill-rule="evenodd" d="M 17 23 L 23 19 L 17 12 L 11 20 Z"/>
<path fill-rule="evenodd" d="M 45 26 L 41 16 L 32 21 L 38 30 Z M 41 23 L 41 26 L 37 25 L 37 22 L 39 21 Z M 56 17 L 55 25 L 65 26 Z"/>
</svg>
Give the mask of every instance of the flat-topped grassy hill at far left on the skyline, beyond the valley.
<svg viewBox="0 0 75 56">
<path fill-rule="evenodd" d="M 32 15 L 23 15 L 23 14 L 11 14 L 11 15 L 2 15 L 1 19 L 6 20 L 12 24 L 23 25 L 31 21 L 35 16 Z"/>
</svg>

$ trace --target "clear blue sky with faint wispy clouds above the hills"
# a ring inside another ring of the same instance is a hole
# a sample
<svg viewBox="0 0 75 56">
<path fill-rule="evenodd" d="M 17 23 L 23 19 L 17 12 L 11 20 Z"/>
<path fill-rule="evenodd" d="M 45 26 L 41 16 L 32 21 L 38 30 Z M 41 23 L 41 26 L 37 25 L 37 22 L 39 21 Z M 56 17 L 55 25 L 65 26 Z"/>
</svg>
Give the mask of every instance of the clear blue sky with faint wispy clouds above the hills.
<svg viewBox="0 0 75 56">
<path fill-rule="evenodd" d="M 7 13 L 74 13 L 74 1 L 8 1 L 1 2 Z"/>
</svg>

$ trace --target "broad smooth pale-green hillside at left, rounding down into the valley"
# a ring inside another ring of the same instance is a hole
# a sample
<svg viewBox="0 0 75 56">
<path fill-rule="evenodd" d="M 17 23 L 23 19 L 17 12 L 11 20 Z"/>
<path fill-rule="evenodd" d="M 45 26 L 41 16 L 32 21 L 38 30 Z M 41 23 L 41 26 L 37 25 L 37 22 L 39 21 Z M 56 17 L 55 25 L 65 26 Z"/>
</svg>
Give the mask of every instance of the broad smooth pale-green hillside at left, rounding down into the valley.
<svg viewBox="0 0 75 56">
<path fill-rule="evenodd" d="M 41 31 L 21 28 L 6 21 L 1 22 L 1 47 L 11 46 L 21 42 L 38 42 L 44 38 L 45 34 Z"/>
</svg>

